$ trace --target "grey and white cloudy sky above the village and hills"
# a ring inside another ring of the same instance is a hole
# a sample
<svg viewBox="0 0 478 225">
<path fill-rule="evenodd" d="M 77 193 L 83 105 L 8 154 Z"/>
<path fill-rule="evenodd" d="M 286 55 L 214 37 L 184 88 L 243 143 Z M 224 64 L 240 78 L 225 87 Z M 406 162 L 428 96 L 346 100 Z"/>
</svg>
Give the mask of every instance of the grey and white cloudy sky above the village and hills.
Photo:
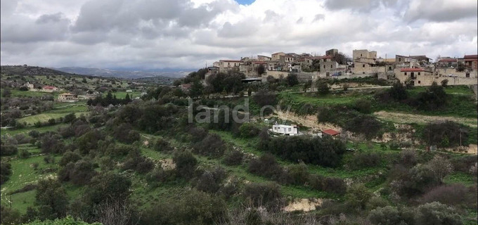
<svg viewBox="0 0 478 225">
<path fill-rule="evenodd" d="M 197 69 L 370 49 L 477 53 L 477 0 L 1 0 L 1 65 Z"/>
</svg>

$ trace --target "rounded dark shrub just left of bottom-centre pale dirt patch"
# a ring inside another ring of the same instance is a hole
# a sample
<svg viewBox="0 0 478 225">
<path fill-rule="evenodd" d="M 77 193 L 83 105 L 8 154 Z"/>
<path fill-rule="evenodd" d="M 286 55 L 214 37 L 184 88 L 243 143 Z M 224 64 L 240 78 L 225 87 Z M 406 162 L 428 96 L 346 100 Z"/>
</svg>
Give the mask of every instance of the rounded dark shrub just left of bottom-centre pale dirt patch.
<svg viewBox="0 0 478 225">
<path fill-rule="evenodd" d="M 276 205 L 282 196 L 276 183 L 247 184 L 243 194 L 254 206 Z"/>
</svg>

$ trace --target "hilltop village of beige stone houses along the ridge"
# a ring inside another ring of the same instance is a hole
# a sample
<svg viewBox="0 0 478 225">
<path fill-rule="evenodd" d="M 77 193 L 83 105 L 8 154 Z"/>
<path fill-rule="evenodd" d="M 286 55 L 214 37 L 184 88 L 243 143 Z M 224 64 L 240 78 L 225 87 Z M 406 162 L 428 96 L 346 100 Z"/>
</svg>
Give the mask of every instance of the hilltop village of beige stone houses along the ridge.
<svg viewBox="0 0 478 225">
<path fill-rule="evenodd" d="M 448 84 L 477 84 L 478 55 L 463 58 L 441 57 L 432 62 L 427 56 L 377 57 L 377 51 L 359 49 L 347 58 L 337 49 L 325 51 L 323 56 L 309 53 L 273 53 L 271 56 L 244 57 L 240 60 L 219 60 L 207 68 L 207 75 L 217 72 L 243 72 L 248 79 L 286 77 L 295 73 L 299 80 L 322 78 L 354 78 L 378 76 L 380 79 L 399 79 L 400 82 L 428 86 L 448 79 Z"/>
</svg>

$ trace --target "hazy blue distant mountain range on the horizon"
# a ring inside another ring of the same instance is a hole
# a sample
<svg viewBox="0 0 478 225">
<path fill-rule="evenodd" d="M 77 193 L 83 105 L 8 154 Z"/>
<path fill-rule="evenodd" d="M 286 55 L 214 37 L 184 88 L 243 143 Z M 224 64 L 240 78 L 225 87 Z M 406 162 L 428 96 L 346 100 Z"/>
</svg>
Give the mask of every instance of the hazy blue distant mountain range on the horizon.
<svg viewBox="0 0 478 225">
<path fill-rule="evenodd" d="M 100 68 L 79 68 L 79 67 L 65 67 L 53 68 L 63 72 L 69 72 L 77 75 L 93 75 L 101 77 L 119 77 L 119 78 L 143 78 L 143 77 L 171 77 L 180 78 L 188 75 L 189 72 L 161 72 L 161 71 L 145 71 L 145 70 L 105 70 Z"/>
</svg>

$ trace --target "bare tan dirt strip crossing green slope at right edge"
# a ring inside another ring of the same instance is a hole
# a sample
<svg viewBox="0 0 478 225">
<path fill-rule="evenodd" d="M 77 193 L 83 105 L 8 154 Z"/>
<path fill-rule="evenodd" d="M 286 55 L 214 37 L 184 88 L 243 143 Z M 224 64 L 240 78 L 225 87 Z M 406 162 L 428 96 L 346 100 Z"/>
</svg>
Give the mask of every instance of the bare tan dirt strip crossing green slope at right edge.
<svg viewBox="0 0 478 225">
<path fill-rule="evenodd" d="M 451 120 L 453 122 L 459 122 L 461 124 L 466 124 L 470 127 L 478 127 L 477 118 L 463 118 L 463 117 L 444 117 L 444 116 L 431 116 L 431 115 L 417 115 L 409 113 L 391 113 L 391 112 L 375 112 L 373 115 L 377 116 L 382 120 L 390 120 L 397 123 L 418 123 L 425 124 L 427 122 L 437 122 Z"/>
</svg>

